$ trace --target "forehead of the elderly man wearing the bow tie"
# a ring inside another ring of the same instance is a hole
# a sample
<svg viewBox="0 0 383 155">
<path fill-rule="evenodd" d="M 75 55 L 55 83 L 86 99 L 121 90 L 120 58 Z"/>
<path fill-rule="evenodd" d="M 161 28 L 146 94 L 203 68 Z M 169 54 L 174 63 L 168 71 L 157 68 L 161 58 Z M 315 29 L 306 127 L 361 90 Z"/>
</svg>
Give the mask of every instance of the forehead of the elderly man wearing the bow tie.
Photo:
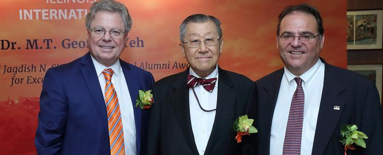
<svg viewBox="0 0 383 155">
<path fill-rule="evenodd" d="M 204 23 L 191 22 L 186 25 L 186 36 L 206 36 L 214 35 L 218 37 L 217 27 L 213 21 L 206 21 Z"/>
</svg>

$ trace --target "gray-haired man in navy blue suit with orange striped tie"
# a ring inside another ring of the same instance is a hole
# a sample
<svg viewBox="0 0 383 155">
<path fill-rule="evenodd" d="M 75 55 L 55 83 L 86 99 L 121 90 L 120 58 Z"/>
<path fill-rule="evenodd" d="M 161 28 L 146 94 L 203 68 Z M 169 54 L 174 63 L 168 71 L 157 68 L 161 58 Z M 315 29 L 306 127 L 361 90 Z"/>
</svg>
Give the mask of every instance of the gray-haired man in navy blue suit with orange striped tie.
<svg viewBox="0 0 383 155">
<path fill-rule="evenodd" d="M 119 59 L 132 26 L 129 12 L 122 3 L 99 1 L 85 20 L 89 52 L 45 74 L 37 154 L 146 154 L 149 111 L 134 105 L 154 80 Z"/>
</svg>

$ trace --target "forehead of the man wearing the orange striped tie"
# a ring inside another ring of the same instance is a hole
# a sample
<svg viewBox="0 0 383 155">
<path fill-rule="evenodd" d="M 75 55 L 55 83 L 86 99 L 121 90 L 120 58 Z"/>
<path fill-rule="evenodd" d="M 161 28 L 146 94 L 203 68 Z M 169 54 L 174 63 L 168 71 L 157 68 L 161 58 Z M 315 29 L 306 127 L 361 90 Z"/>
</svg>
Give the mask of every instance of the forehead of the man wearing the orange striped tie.
<svg viewBox="0 0 383 155">
<path fill-rule="evenodd" d="M 118 12 L 98 11 L 90 23 L 91 27 L 124 28 L 124 21 Z"/>
</svg>

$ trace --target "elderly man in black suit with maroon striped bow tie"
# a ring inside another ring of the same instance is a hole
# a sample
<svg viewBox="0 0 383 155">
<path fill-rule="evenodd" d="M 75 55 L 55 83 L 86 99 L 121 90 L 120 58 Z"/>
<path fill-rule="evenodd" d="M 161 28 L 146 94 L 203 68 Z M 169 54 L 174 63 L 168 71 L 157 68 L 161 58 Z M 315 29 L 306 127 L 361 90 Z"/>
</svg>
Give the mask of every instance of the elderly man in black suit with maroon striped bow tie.
<svg viewBox="0 0 383 155">
<path fill-rule="evenodd" d="M 253 86 L 249 78 L 221 69 L 220 21 L 188 16 L 180 26 L 186 71 L 155 83 L 148 154 L 242 154 L 255 150 L 235 141 L 234 120 L 246 114 Z"/>
</svg>

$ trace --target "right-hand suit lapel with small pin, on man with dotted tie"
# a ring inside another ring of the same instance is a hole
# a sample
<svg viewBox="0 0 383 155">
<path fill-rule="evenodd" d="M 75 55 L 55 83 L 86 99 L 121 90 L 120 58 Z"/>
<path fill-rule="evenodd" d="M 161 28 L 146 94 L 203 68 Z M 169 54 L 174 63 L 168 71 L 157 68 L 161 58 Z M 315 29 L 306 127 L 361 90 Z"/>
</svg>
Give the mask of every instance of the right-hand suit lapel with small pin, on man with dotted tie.
<svg viewBox="0 0 383 155">
<path fill-rule="evenodd" d="M 345 107 L 345 101 L 340 97 L 345 88 L 332 67 L 323 59 L 322 61 L 325 63 L 324 83 L 315 131 L 313 155 L 323 154 Z M 340 110 L 334 110 L 334 106 L 340 106 Z"/>
</svg>

